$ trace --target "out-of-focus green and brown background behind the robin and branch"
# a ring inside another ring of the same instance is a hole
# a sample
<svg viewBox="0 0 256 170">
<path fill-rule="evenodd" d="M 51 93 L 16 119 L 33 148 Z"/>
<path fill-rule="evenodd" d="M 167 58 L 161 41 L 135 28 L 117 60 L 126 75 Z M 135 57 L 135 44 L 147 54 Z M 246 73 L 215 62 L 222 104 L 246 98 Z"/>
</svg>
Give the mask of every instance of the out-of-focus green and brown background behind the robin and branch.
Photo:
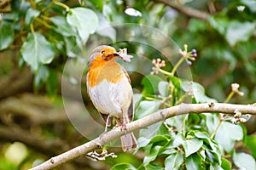
<svg viewBox="0 0 256 170">
<path fill-rule="evenodd" d="M 77 7 L 90 11 L 69 10 Z M 253 0 L 0 1 L 0 169 L 27 169 L 88 141 L 82 135 L 92 123 L 86 122 L 88 114 L 84 114 L 85 122 L 75 116 L 84 107 L 102 124 L 84 83 L 90 51 L 102 43 L 128 48 L 129 54 L 145 59 L 125 64 L 137 92 L 143 91 L 142 80 L 152 71 L 152 59 L 166 59 L 165 70 L 171 71 L 177 49 L 188 44 L 189 51 L 197 51 L 196 60 L 186 67 L 189 78 L 199 82 L 207 96 L 224 102 L 231 83 L 237 82 L 244 95 L 235 95 L 230 103 L 254 103 L 255 16 Z M 136 32 L 143 25 L 142 33 Z M 147 34 L 148 26 L 152 28 Z M 153 36 L 154 29 L 160 36 Z M 160 47 L 157 41 L 162 41 Z M 246 127 L 248 134 L 256 135 L 255 116 Z M 90 129 L 90 135 L 102 129 Z M 92 161 L 82 157 L 61 169 L 142 163 L 143 154 L 110 150 L 118 158 Z"/>
</svg>

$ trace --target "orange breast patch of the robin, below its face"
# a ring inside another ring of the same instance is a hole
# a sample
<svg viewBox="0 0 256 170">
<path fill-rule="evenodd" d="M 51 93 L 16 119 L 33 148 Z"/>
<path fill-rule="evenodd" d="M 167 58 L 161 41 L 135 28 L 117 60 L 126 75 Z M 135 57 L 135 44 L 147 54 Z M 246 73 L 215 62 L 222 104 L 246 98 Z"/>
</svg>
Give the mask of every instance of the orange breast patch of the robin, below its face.
<svg viewBox="0 0 256 170">
<path fill-rule="evenodd" d="M 121 81 L 123 74 L 121 73 L 121 65 L 115 59 L 111 60 L 94 60 L 90 63 L 89 84 L 93 88 L 103 80 L 117 83 Z"/>
</svg>

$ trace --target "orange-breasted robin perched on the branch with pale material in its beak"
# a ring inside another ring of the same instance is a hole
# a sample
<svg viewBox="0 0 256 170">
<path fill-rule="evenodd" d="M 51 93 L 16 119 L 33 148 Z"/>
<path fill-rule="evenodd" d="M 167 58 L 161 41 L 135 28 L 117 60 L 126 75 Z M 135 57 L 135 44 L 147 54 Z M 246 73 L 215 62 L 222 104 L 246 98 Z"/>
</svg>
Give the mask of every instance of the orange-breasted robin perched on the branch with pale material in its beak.
<svg viewBox="0 0 256 170">
<path fill-rule="evenodd" d="M 105 133 L 113 118 L 117 126 L 125 130 L 125 124 L 133 120 L 134 104 L 131 80 L 116 58 L 130 61 L 126 51 L 117 52 L 115 48 L 102 45 L 93 50 L 89 59 L 87 91 L 96 110 L 106 122 Z M 121 136 L 124 151 L 137 148 L 133 133 Z"/>
</svg>

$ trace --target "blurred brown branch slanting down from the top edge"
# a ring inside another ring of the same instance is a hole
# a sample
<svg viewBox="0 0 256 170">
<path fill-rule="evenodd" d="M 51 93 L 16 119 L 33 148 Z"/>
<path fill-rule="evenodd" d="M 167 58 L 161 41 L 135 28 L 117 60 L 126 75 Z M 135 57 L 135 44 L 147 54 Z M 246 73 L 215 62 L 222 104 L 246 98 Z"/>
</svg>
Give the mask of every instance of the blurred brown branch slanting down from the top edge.
<svg viewBox="0 0 256 170">
<path fill-rule="evenodd" d="M 209 16 L 209 14 L 206 12 L 197 10 L 195 8 L 186 7 L 186 6 L 180 5 L 178 3 L 173 3 L 172 1 L 166 1 L 166 0 L 154 0 L 154 1 L 157 3 L 163 3 L 166 6 L 176 9 L 180 13 L 186 14 L 190 17 L 194 17 L 197 19 L 207 20 L 207 18 Z"/>
</svg>

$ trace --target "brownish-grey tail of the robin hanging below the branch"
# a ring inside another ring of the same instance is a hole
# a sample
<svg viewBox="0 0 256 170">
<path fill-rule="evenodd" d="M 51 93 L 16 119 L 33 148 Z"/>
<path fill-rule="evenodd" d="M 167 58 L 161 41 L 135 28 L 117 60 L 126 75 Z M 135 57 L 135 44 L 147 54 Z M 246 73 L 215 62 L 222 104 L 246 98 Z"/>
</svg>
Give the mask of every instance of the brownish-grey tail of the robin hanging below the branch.
<svg viewBox="0 0 256 170">
<path fill-rule="evenodd" d="M 131 151 L 137 148 L 137 139 L 133 133 L 127 133 L 121 136 L 121 144 L 124 151 Z"/>
</svg>

